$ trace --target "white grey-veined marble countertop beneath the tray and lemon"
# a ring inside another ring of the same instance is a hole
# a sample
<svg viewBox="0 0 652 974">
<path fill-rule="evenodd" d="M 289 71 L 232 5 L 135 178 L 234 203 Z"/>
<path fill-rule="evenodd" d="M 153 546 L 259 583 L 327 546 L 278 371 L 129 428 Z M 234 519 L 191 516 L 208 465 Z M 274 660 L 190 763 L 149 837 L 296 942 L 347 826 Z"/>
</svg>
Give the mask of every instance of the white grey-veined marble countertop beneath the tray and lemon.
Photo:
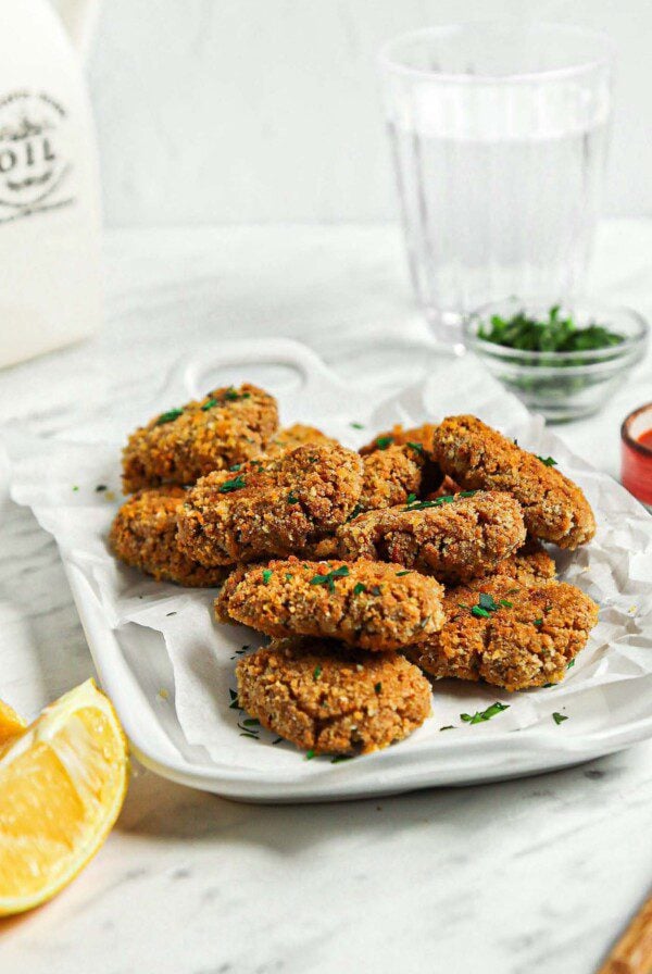
<svg viewBox="0 0 652 974">
<path fill-rule="evenodd" d="M 64 432 L 227 336 L 302 338 L 352 380 L 369 342 L 386 376 L 427 367 L 392 228 L 116 232 L 106 258 L 103 333 L 0 373 L 5 421 Z M 652 314 L 652 223 L 603 229 L 593 291 Z M 650 398 L 649 355 L 600 416 L 560 432 L 616 474 L 619 421 Z M 0 697 L 32 716 L 92 666 L 53 542 L 0 503 Z M 592 972 L 652 877 L 651 758 L 645 744 L 521 782 L 277 808 L 136 767 L 93 863 L 0 925 L 0 970 Z"/>
</svg>

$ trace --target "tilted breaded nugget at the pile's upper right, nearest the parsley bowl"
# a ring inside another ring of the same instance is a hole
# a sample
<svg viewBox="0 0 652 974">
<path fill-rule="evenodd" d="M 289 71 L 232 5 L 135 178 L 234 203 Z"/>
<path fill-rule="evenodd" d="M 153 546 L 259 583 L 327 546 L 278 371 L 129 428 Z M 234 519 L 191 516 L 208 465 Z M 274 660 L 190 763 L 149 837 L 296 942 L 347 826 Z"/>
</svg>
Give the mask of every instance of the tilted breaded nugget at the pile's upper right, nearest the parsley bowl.
<svg viewBox="0 0 652 974">
<path fill-rule="evenodd" d="M 444 473 L 464 488 L 512 494 L 534 537 L 574 549 L 595 534 L 593 512 L 577 484 L 475 416 L 449 416 L 437 427 L 434 446 Z"/>
</svg>

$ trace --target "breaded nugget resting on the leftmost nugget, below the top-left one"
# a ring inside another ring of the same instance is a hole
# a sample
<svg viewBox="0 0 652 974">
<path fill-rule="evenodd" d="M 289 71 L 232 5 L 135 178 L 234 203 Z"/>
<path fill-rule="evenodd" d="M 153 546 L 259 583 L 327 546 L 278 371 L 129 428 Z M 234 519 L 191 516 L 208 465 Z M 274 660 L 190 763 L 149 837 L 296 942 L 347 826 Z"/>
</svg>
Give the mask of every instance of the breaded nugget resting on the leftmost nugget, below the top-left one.
<svg viewBox="0 0 652 974">
<path fill-rule="evenodd" d="M 333 534 L 362 490 L 362 460 L 340 446 L 298 447 L 202 477 L 179 513 L 178 544 L 206 567 L 287 557 Z"/>
</svg>

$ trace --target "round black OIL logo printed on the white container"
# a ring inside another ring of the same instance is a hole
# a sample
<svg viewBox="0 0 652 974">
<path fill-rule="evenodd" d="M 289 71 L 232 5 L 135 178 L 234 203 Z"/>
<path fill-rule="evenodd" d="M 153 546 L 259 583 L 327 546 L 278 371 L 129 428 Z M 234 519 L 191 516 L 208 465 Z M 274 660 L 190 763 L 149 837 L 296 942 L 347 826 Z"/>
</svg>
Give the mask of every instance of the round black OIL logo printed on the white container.
<svg viewBox="0 0 652 974">
<path fill-rule="evenodd" d="M 65 109 L 45 92 L 0 99 L 0 223 L 74 202 L 66 121 Z"/>
</svg>

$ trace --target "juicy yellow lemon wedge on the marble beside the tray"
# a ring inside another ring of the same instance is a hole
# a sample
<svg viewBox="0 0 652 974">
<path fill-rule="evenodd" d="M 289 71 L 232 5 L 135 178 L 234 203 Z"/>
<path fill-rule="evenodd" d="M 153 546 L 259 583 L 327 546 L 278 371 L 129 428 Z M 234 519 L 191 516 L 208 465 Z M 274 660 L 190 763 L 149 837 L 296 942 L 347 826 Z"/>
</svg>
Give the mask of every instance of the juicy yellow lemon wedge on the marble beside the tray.
<svg viewBox="0 0 652 974">
<path fill-rule="evenodd" d="M 122 808 L 127 741 L 88 679 L 0 736 L 0 916 L 40 903 L 98 851 Z M 0 735 L 2 727 L 0 725 Z"/>
</svg>

